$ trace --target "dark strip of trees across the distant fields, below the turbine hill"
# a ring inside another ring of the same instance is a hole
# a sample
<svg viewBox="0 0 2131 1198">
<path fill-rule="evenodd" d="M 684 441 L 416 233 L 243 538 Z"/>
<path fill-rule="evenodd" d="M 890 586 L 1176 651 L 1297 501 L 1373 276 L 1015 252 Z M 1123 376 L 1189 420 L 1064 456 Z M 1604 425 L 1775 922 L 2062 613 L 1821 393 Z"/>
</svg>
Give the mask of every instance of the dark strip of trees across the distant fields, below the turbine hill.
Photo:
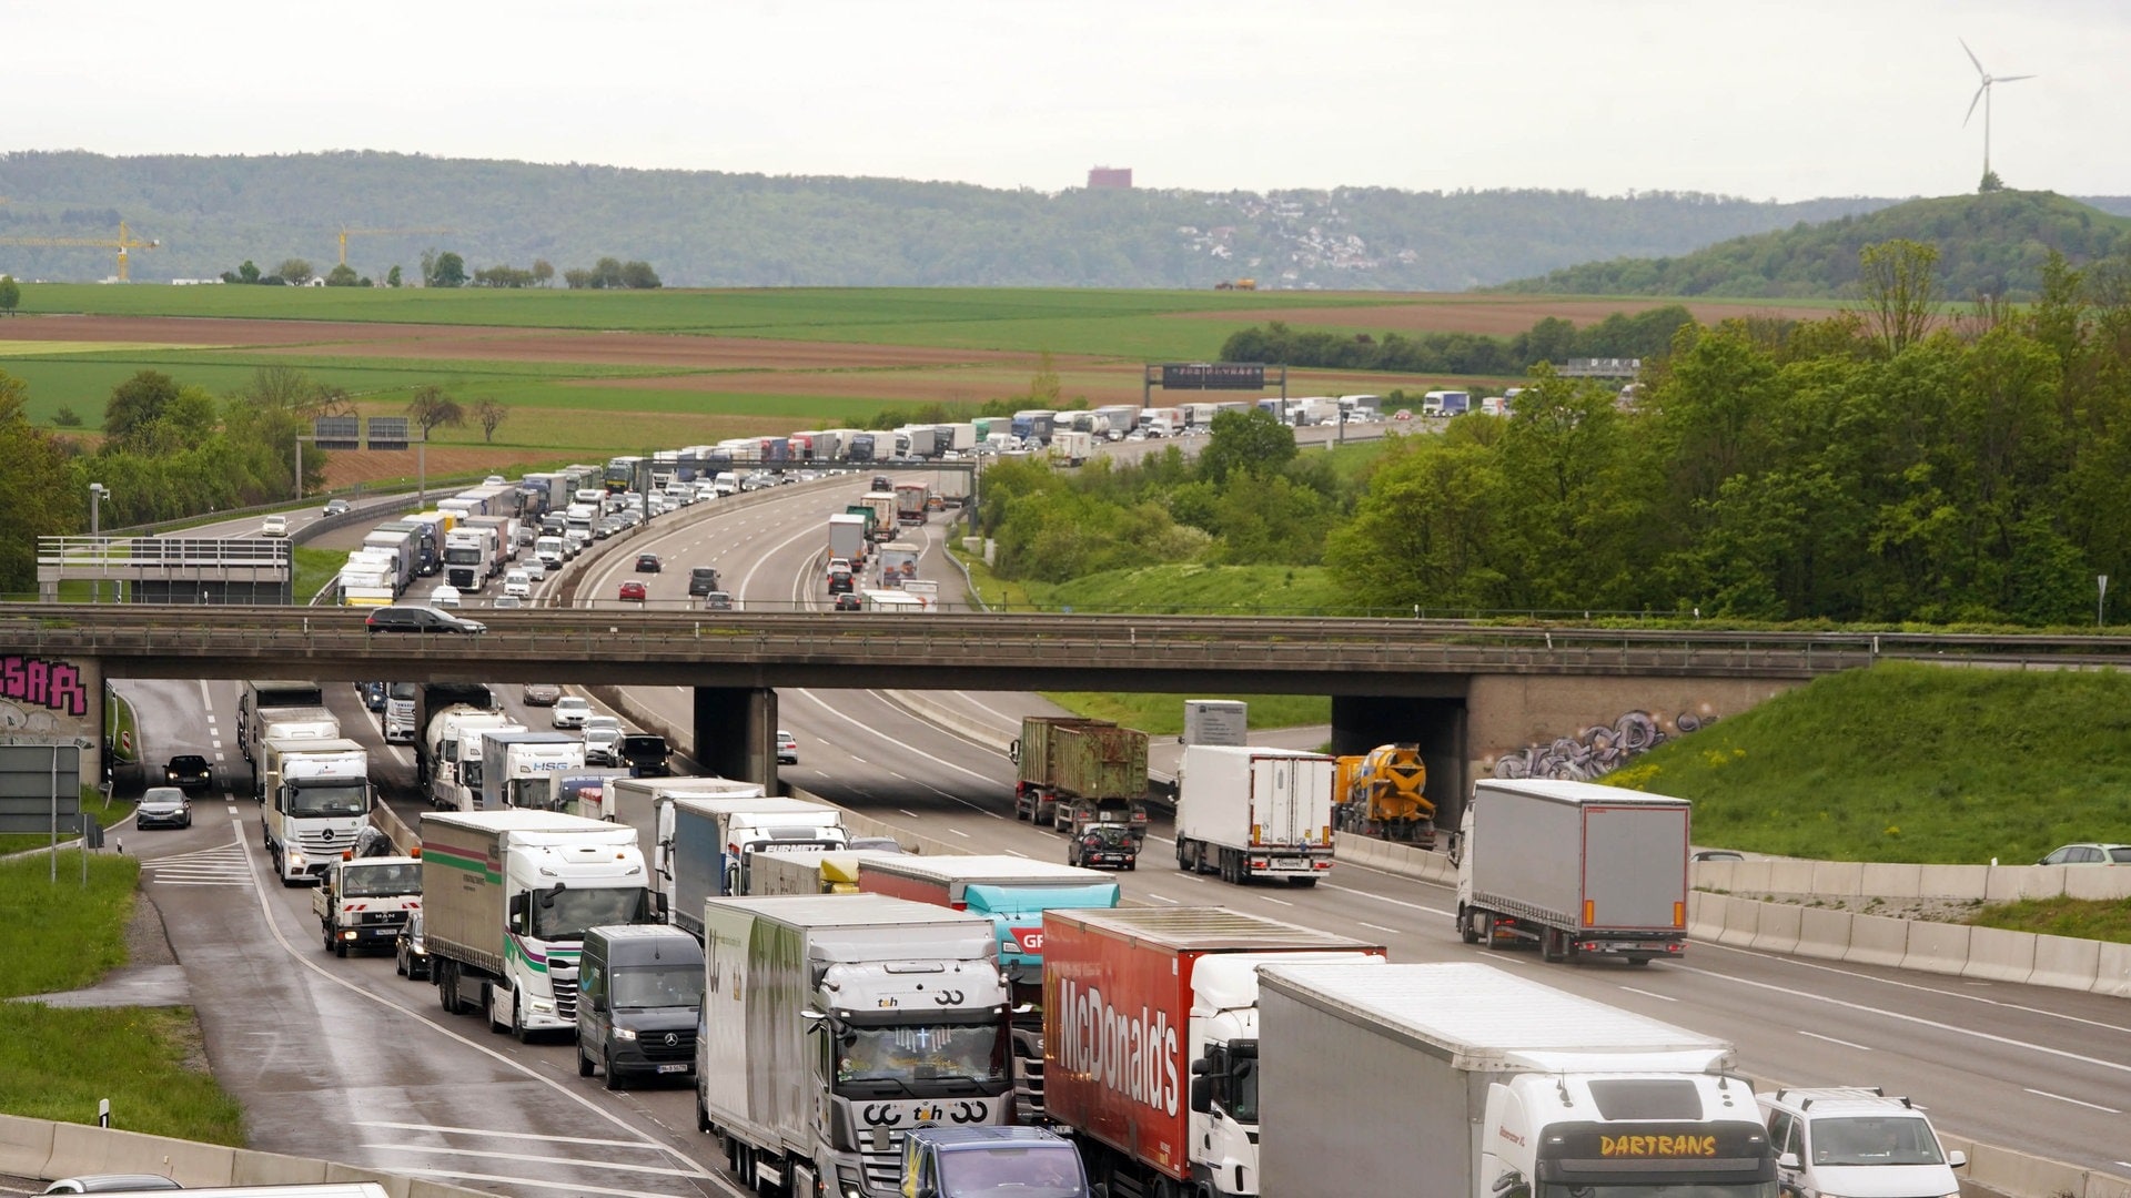
<svg viewBox="0 0 2131 1198">
<path fill-rule="evenodd" d="M 1656 358 L 1694 315 L 1679 307 L 1652 307 L 1628 315 L 1615 311 L 1577 328 L 1549 315 L 1515 337 L 1483 333 L 1334 333 L 1294 328 L 1274 320 L 1251 326 L 1221 343 L 1223 362 L 1268 362 L 1334 371 L 1398 371 L 1409 375 L 1524 375 L 1539 362 L 1571 358 Z"/>
</svg>

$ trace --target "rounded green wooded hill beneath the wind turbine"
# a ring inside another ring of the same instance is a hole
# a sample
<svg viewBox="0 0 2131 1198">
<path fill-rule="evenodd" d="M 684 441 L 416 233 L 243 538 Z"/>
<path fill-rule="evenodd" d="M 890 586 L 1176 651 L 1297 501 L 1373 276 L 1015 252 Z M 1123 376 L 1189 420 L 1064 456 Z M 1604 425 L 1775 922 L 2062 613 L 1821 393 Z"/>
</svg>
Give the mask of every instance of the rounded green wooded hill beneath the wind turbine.
<svg viewBox="0 0 2131 1198">
<path fill-rule="evenodd" d="M 1909 200 L 1782 232 L 1735 237 L 1679 258 L 1615 258 L 1507 284 L 1513 292 L 1826 298 L 1856 288 L 1858 249 L 1877 241 L 1939 247 L 1946 298 L 2029 298 L 2056 249 L 2073 266 L 2131 252 L 2131 217 L 2054 192 Z"/>
</svg>

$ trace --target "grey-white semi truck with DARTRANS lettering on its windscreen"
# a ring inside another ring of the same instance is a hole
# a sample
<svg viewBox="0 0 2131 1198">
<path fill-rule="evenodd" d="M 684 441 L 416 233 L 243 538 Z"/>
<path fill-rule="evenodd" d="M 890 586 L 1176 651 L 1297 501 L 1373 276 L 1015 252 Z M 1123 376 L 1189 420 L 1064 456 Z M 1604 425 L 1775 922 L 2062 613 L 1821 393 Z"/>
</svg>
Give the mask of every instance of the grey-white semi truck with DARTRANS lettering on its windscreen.
<svg viewBox="0 0 2131 1198">
<path fill-rule="evenodd" d="M 1264 1194 L 1775 1198 L 1730 1045 L 1473 961 L 1259 968 Z"/>
</svg>

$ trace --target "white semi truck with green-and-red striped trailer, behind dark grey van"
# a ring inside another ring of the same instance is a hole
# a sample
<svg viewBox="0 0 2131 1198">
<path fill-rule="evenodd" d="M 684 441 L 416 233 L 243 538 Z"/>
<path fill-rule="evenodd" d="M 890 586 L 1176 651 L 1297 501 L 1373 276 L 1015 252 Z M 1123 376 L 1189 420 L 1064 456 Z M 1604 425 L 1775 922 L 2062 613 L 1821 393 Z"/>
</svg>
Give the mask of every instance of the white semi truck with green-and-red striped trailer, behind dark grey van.
<svg viewBox="0 0 2131 1198">
<path fill-rule="evenodd" d="M 631 827 L 541 810 L 422 814 L 422 938 L 437 1000 L 524 1040 L 578 1027 L 584 932 L 656 923 Z"/>
</svg>

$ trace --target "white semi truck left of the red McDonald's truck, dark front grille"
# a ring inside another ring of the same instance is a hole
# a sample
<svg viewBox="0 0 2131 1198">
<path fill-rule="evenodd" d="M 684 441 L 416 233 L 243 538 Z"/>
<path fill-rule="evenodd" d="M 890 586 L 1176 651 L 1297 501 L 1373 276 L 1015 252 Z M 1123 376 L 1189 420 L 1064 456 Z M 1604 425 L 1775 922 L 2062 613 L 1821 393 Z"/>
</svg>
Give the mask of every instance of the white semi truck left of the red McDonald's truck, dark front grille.
<svg viewBox="0 0 2131 1198">
<path fill-rule="evenodd" d="M 923 1123 L 1012 1117 L 991 921 L 884 895 L 707 900 L 697 1128 L 765 1194 L 893 1198 Z"/>
</svg>

